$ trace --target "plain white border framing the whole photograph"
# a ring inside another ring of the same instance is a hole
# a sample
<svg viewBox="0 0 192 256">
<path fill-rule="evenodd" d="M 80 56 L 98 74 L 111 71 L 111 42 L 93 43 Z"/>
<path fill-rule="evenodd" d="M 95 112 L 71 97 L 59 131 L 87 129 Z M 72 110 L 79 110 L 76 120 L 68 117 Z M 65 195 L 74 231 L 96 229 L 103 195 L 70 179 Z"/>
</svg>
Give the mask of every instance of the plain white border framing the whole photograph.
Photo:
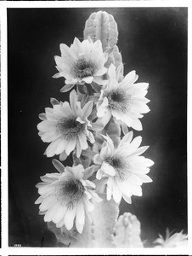
<svg viewBox="0 0 192 256">
<path fill-rule="evenodd" d="M 178 255 L 192 254 L 192 78 L 191 78 L 191 33 L 192 20 L 190 1 L 45 1 L 45 2 L 6 2 L 0 3 L 1 19 L 1 135 L 2 135 L 2 248 L 0 255 L 102 255 L 102 254 L 141 254 L 141 255 Z M 59 248 L 59 247 L 8 247 L 8 78 L 7 78 L 7 9 L 8 8 L 112 8 L 112 7 L 188 7 L 188 226 L 189 247 L 184 249 L 156 249 L 156 248 Z"/>
</svg>

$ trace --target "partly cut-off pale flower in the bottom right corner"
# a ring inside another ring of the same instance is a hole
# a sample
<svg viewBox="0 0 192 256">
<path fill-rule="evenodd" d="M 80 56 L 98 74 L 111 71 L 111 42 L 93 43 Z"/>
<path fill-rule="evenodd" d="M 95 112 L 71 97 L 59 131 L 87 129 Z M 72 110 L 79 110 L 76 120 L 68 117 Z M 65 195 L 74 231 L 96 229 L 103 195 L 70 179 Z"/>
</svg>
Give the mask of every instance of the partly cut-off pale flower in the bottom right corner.
<svg viewBox="0 0 192 256">
<path fill-rule="evenodd" d="M 187 247 L 188 235 L 183 234 L 183 230 L 179 233 L 175 233 L 171 236 L 172 232 L 166 230 L 166 238 L 164 239 L 161 235 L 157 238 L 154 243 L 158 243 L 155 247 Z"/>
</svg>

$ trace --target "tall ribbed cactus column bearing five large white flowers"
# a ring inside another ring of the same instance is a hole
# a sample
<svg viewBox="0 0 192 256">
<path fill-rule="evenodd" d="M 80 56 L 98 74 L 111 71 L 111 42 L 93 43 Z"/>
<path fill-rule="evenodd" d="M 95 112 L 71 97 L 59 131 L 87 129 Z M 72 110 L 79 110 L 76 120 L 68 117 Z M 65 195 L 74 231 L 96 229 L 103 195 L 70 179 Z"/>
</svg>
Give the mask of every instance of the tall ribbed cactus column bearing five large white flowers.
<svg viewBox="0 0 192 256">
<path fill-rule="evenodd" d="M 131 204 L 133 195 L 142 196 L 142 184 L 152 182 L 147 174 L 154 162 L 142 155 L 149 147 L 128 130 L 143 130 L 149 84 L 136 83 L 135 71 L 124 74 L 117 39 L 113 16 L 99 11 L 86 21 L 82 42 L 60 44 L 54 78 L 65 78 L 61 92 L 73 88 L 70 103 L 51 98 L 52 108 L 39 115 L 45 154 L 59 160 L 53 160 L 58 172 L 37 184 L 36 204 L 65 246 L 144 247 L 138 219 L 118 215 L 122 198 Z M 73 165 L 64 166 L 69 155 Z"/>
</svg>

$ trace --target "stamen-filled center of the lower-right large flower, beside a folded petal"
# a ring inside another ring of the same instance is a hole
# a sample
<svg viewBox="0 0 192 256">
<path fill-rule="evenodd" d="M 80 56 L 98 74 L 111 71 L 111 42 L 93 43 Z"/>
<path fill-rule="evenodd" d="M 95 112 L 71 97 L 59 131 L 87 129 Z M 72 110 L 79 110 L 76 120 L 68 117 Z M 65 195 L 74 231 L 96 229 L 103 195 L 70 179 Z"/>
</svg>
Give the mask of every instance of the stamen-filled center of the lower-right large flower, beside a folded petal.
<svg viewBox="0 0 192 256">
<path fill-rule="evenodd" d="M 127 178 L 130 177 L 132 167 L 122 157 L 107 157 L 104 161 L 110 164 L 110 166 L 113 166 L 116 171 L 116 177 L 119 178 L 121 182 L 127 180 Z"/>
</svg>

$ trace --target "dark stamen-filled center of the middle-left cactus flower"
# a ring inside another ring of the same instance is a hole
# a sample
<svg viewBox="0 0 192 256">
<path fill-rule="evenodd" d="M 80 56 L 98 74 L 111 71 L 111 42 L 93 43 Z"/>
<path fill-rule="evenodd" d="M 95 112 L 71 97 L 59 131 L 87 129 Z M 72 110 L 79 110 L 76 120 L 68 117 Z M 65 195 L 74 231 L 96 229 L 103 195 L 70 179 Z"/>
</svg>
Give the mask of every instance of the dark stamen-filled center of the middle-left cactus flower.
<svg viewBox="0 0 192 256">
<path fill-rule="evenodd" d="M 80 131 L 84 128 L 84 125 L 76 121 L 75 118 L 65 118 L 59 121 L 57 130 L 65 137 L 66 140 L 76 137 Z"/>
</svg>

